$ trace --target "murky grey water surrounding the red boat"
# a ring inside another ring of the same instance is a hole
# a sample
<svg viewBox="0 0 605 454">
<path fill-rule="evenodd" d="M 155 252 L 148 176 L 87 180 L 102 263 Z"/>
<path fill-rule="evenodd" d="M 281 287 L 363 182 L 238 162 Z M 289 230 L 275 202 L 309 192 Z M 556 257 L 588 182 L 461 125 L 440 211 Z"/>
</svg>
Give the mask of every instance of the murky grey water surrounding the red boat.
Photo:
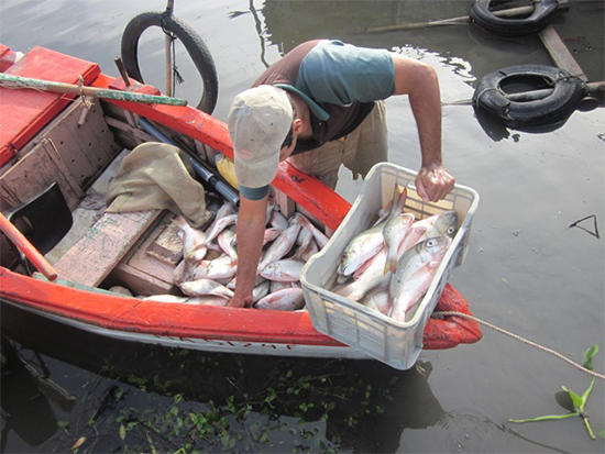
<svg viewBox="0 0 605 454">
<path fill-rule="evenodd" d="M 220 81 L 215 114 L 226 120 L 235 93 L 283 52 L 314 37 L 425 59 L 438 70 L 446 104 L 470 99 L 493 70 L 551 64 L 536 36 L 501 38 L 473 25 L 363 32 L 466 15 L 470 3 L 176 0 L 175 13 L 212 53 Z M 120 53 L 123 27 L 140 12 L 163 10 L 165 2 L 3 0 L 0 5 L 0 40 L 11 48 L 41 45 L 97 62 L 117 75 L 113 56 Z M 553 24 L 588 80 L 605 80 L 603 2 L 571 1 Z M 143 74 L 162 86 L 162 37 L 150 33 L 144 40 Z M 194 71 L 185 57 L 177 64 L 186 79 L 177 96 L 196 98 Z M 391 160 L 417 169 L 408 103 L 394 98 L 387 106 Z M 450 283 L 479 318 L 575 362 L 598 344 L 594 368 L 603 372 L 604 110 L 574 112 L 554 131 L 527 133 L 480 121 L 470 106 L 444 106 L 443 155 L 458 182 L 481 196 L 466 262 Z M 359 186 L 342 173 L 339 191 L 346 198 L 352 200 Z M 32 325 L 7 310 L 2 322 L 22 357 L 38 370 L 45 365 L 46 374 L 76 397 L 67 401 L 56 391 L 40 391 L 28 370 L 13 366 L 1 383 L 3 452 L 68 452 L 80 438 L 78 452 L 605 450 L 598 435 L 588 438 L 580 418 L 508 422 L 565 413 L 556 400 L 561 386 L 582 394 L 591 378 L 487 328 L 477 344 L 424 352 L 418 368 L 396 372 L 377 362 L 124 345 L 50 322 Z M 597 380 L 586 407 L 596 433 L 605 427 L 604 408 L 604 385 Z"/>
</svg>

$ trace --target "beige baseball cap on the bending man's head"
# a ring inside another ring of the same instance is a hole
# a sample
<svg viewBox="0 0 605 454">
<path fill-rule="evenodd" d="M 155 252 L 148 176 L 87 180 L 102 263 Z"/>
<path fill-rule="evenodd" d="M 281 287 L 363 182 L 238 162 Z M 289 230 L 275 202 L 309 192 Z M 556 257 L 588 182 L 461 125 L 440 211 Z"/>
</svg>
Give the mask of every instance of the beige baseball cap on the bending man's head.
<svg viewBox="0 0 605 454">
<path fill-rule="evenodd" d="M 279 88 L 262 85 L 235 97 L 228 126 L 240 185 L 258 188 L 273 181 L 293 120 L 292 103 Z"/>
</svg>

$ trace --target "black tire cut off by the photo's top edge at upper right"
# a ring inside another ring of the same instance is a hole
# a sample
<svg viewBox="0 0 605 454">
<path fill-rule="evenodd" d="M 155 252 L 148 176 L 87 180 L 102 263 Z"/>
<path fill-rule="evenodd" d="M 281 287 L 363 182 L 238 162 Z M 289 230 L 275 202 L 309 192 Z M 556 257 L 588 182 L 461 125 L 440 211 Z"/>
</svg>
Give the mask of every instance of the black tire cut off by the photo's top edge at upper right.
<svg viewBox="0 0 605 454">
<path fill-rule="evenodd" d="M 522 36 L 547 26 L 559 8 L 559 0 L 532 1 L 534 12 L 525 19 L 505 19 L 494 15 L 493 3 L 498 0 L 473 0 L 471 19 L 482 29 L 502 36 Z"/>
</svg>

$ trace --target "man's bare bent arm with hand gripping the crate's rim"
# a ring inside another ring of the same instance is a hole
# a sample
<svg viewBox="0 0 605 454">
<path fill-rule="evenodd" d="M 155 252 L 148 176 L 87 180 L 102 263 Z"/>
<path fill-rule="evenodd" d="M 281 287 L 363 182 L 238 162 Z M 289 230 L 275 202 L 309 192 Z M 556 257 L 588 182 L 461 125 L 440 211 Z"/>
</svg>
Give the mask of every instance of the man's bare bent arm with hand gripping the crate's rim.
<svg viewBox="0 0 605 454">
<path fill-rule="evenodd" d="M 395 95 L 407 95 L 418 128 L 422 164 L 416 189 L 424 200 L 437 201 L 451 192 L 454 178 L 441 159 L 441 98 L 435 69 L 422 62 L 392 54 Z"/>
</svg>

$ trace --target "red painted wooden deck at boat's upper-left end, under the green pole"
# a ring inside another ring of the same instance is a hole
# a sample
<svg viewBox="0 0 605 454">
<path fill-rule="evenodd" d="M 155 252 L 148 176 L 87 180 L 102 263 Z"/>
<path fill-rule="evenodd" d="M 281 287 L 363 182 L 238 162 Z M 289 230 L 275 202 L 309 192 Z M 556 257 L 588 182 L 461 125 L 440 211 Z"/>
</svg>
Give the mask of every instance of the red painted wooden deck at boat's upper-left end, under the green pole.
<svg viewBox="0 0 605 454">
<path fill-rule="evenodd" d="M 48 51 L 32 48 L 6 74 L 66 84 L 90 84 L 101 73 L 97 64 Z M 24 96 L 24 90 L 28 95 Z M 74 98 L 32 89 L 0 87 L 0 166 L 24 146 Z"/>
</svg>

